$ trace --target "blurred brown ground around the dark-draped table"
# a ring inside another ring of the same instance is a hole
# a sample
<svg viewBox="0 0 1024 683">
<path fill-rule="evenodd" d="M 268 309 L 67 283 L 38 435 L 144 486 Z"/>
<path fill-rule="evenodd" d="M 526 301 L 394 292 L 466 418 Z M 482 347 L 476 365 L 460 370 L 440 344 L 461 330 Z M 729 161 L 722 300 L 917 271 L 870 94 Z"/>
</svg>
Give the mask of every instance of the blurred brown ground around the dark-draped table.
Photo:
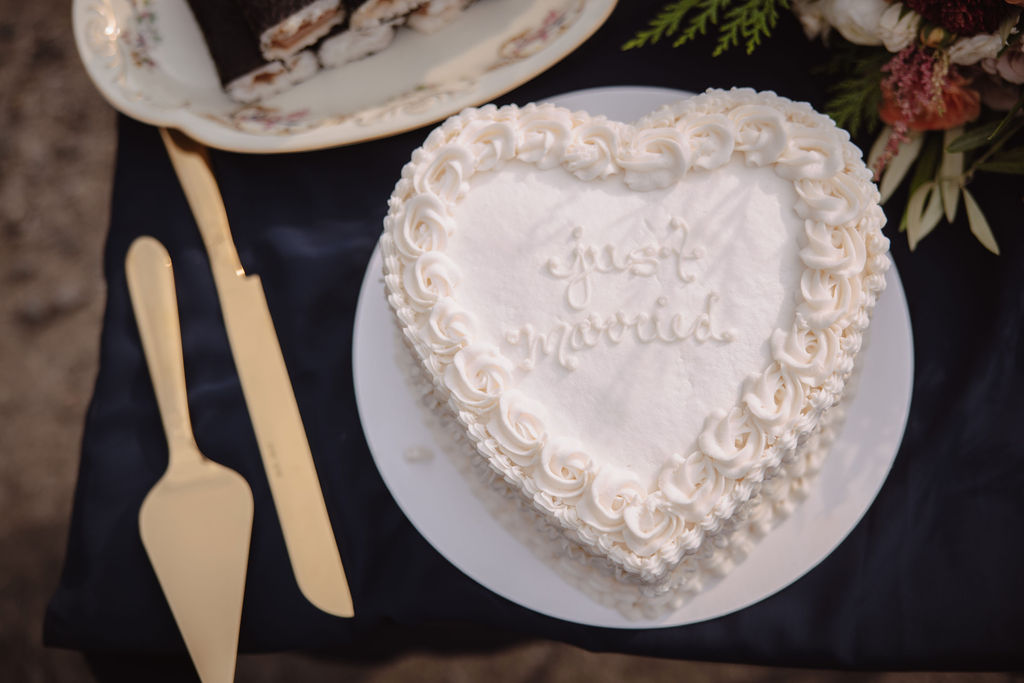
<svg viewBox="0 0 1024 683">
<path fill-rule="evenodd" d="M 0 680 L 93 681 L 41 645 L 96 373 L 115 115 L 78 61 L 70 2 L 0 0 Z M 855 675 L 594 654 L 538 641 L 379 664 L 246 655 L 239 681 L 1024 680 Z"/>
</svg>

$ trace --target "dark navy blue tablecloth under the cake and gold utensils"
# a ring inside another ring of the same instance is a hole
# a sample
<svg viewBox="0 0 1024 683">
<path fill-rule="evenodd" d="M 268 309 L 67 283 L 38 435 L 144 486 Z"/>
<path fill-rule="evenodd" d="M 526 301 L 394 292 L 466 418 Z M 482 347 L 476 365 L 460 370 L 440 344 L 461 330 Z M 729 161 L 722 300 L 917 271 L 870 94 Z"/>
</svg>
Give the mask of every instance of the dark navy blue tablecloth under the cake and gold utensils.
<svg viewBox="0 0 1024 683">
<path fill-rule="evenodd" d="M 603 85 L 737 85 L 824 103 L 824 82 L 809 74 L 824 51 L 790 16 L 753 57 L 733 50 L 713 59 L 709 42 L 620 51 L 658 5 L 621 3 L 581 49 L 499 102 Z M 465 578 L 402 516 L 367 450 L 352 390 L 352 317 L 386 200 L 427 130 L 305 154 L 213 152 L 239 253 L 246 270 L 263 279 L 324 483 L 357 611 L 344 621 L 309 605 L 289 569 L 209 264 L 157 131 L 125 118 L 119 125 L 99 376 L 66 567 L 46 615 L 48 644 L 182 651 L 136 521 L 166 465 L 123 268 L 132 239 L 147 233 L 174 262 L 198 442 L 245 475 L 255 497 L 244 651 L 355 656 L 541 637 L 591 650 L 776 665 L 1024 666 L 1019 181 L 976 183 L 992 207 L 1000 257 L 963 222 L 938 228 L 911 255 L 895 232 L 898 215 L 891 217 L 887 231 L 913 324 L 913 403 L 892 473 L 850 537 L 805 578 L 748 609 L 688 627 L 617 631 L 541 616 Z"/>
</svg>

